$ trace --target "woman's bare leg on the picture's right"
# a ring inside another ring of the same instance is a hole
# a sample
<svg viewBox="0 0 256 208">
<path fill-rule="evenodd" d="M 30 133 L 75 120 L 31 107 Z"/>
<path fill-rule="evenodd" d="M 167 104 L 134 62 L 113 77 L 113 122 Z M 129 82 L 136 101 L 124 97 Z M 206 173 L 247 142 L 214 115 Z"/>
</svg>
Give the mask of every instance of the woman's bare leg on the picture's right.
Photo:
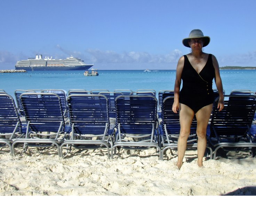
<svg viewBox="0 0 256 208">
<path fill-rule="evenodd" d="M 203 166 L 203 156 L 206 149 L 206 129 L 210 119 L 213 104 L 202 107 L 196 114 L 197 118 L 197 164 L 199 167 Z"/>
</svg>

